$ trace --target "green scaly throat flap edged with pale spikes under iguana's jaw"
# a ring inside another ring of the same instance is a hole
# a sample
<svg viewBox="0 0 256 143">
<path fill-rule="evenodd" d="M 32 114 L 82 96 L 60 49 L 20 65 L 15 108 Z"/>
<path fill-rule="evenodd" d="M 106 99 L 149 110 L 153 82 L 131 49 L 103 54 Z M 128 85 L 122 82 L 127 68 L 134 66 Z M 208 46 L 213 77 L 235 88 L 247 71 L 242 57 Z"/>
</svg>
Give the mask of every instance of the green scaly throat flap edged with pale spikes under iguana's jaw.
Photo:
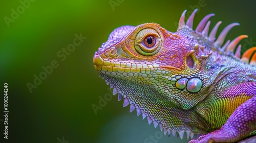
<svg viewBox="0 0 256 143">
<path fill-rule="evenodd" d="M 203 121 L 203 118 L 192 110 L 182 110 L 172 105 L 153 85 L 142 85 L 102 73 L 100 76 L 113 88 L 114 95 L 118 93 L 118 101 L 123 99 L 123 107 L 130 105 L 130 112 L 136 109 L 138 116 L 142 114 L 142 119 L 147 118 L 148 124 L 153 123 L 155 128 L 159 125 L 164 134 L 172 134 L 182 139 L 184 132 L 187 138 L 204 133 L 202 125 L 194 123 Z M 192 124 L 197 126 L 190 126 Z"/>
</svg>

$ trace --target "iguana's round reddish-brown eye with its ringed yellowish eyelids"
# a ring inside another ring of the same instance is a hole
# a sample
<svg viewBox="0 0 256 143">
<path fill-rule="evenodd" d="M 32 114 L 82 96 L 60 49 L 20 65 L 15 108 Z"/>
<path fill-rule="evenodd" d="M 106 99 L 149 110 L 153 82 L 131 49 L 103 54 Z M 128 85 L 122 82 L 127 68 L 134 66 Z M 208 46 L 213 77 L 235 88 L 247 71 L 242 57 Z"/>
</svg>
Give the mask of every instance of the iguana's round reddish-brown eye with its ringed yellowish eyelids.
<svg viewBox="0 0 256 143">
<path fill-rule="evenodd" d="M 152 56 L 161 49 L 160 35 L 152 28 L 142 29 L 134 41 L 135 50 L 144 56 Z"/>
</svg>

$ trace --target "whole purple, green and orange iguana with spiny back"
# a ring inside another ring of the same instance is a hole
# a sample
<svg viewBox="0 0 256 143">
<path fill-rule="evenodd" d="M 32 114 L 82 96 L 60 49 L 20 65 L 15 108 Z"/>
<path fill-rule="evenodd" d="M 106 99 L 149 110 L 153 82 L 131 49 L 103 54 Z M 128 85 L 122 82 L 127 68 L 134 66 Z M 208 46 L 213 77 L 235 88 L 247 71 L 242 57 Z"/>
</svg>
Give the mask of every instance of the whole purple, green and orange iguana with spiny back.
<svg viewBox="0 0 256 143">
<path fill-rule="evenodd" d="M 189 142 L 235 142 L 256 135 L 256 47 L 240 58 L 247 35 L 224 43 L 231 23 L 216 38 L 214 14 L 193 30 L 195 10 L 177 32 L 156 23 L 115 29 L 93 62 L 106 84 L 130 104 L 130 112 L 159 125 L 164 134 L 184 133 Z M 234 49 L 237 49 L 236 51 Z M 235 54 L 233 54 L 235 53 Z M 199 136 L 198 138 L 196 138 Z M 256 140 L 255 140 L 256 141 Z"/>
</svg>

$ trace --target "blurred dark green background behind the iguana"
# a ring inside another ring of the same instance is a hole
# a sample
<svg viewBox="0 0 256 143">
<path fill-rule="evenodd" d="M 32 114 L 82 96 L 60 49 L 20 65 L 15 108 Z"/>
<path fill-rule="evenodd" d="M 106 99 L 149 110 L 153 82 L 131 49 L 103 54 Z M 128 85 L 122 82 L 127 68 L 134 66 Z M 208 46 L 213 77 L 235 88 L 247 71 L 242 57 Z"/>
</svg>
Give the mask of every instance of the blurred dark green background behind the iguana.
<svg viewBox="0 0 256 143">
<path fill-rule="evenodd" d="M 233 28 L 226 39 L 247 34 L 251 39 L 240 42 L 244 52 L 250 45 L 256 45 L 255 4 L 212 0 L 74 0 L 31 1 L 25 4 L 27 8 L 22 8 L 17 0 L 1 1 L 0 86 L 3 89 L 4 83 L 9 85 L 9 142 L 145 142 L 156 134 L 157 142 L 187 142 L 163 136 L 159 127 L 147 125 L 141 115 L 137 117 L 135 112 L 129 112 L 129 107 L 123 108 L 117 96 L 95 114 L 92 104 L 99 105 L 99 97 L 104 98 L 110 91 L 94 69 L 94 52 L 119 26 L 155 22 L 176 31 L 175 22 L 181 13 L 185 9 L 191 13 L 195 8 L 199 11 L 194 28 L 209 13 L 216 14 L 210 19 L 210 28 L 222 21 L 218 34 L 229 23 L 240 22 L 241 26 Z M 87 38 L 69 55 L 65 54 L 66 59 L 57 56 L 80 33 Z M 50 66 L 52 61 L 58 67 L 30 92 L 27 83 L 34 84 L 34 75 L 39 76 L 44 71 L 42 66 Z M 0 105 L 2 114 L 3 98 Z M 2 140 L 4 124 L 0 123 Z"/>
</svg>

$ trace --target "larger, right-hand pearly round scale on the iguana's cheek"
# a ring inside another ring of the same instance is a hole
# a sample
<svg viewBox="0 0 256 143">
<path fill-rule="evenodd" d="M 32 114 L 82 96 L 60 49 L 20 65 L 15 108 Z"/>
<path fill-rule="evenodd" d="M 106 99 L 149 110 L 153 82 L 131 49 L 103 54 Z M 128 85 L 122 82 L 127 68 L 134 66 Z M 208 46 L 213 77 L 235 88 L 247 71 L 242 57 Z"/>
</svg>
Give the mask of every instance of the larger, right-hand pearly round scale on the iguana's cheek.
<svg viewBox="0 0 256 143">
<path fill-rule="evenodd" d="M 187 82 L 187 91 L 198 92 L 202 87 L 202 81 L 199 78 L 192 78 Z"/>
</svg>

